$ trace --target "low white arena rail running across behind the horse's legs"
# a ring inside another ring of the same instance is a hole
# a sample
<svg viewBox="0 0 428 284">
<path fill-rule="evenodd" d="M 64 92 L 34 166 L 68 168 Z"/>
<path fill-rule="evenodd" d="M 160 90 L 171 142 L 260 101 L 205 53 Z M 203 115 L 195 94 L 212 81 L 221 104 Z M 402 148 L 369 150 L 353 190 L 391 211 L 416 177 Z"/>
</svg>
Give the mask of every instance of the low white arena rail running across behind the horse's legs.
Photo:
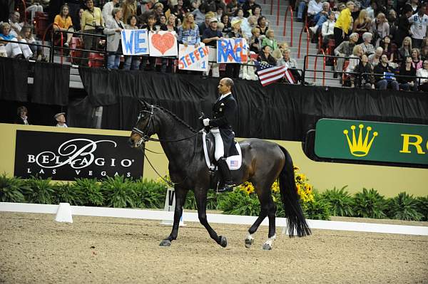
<svg viewBox="0 0 428 284">
<path fill-rule="evenodd" d="M 90 206 L 70 206 L 68 203 L 59 205 L 51 204 L 25 204 L 25 203 L 9 203 L 0 202 L 0 212 L 21 212 L 21 213 L 39 213 L 39 214 L 56 214 L 56 221 L 73 222 L 72 216 L 99 216 L 99 217 L 116 217 L 130 219 L 146 219 L 146 220 L 173 220 L 173 211 L 161 210 L 141 210 L 141 209 L 121 209 L 121 208 L 106 208 L 106 207 L 90 207 Z M 207 214 L 210 223 L 223 224 L 238 224 L 252 225 L 257 219 L 257 216 L 238 216 L 224 214 Z M 184 222 L 199 222 L 198 213 L 183 212 Z M 344 221 L 322 221 L 322 220 L 307 220 L 310 228 L 322 230 L 337 230 L 337 231 L 360 231 L 370 233 L 398 233 L 406 235 L 428 236 L 428 227 L 424 226 L 403 226 L 390 225 L 381 223 L 358 223 Z M 262 226 L 268 226 L 268 220 L 265 219 Z M 287 219 L 277 218 L 277 227 L 287 227 Z M 285 233 L 286 229 L 282 230 Z"/>
</svg>

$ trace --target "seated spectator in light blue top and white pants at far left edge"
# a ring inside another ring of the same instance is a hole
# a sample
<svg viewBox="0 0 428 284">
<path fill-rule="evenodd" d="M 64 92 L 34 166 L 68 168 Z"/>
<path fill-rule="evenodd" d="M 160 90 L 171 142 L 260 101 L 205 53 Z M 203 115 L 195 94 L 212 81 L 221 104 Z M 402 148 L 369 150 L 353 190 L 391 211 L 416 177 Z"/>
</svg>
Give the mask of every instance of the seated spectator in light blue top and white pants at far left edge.
<svg viewBox="0 0 428 284">
<path fill-rule="evenodd" d="M 10 31 L 11 25 L 9 25 L 9 23 L 0 24 L 0 52 L 6 54 L 7 57 L 25 59 L 31 58 L 31 56 L 33 56 L 31 49 L 26 44 L 22 44 L 26 43 L 26 41 L 24 39 L 21 39 L 19 41 L 15 36 L 12 36 L 10 34 Z M 16 41 L 16 43 L 1 41 L 1 39 L 4 39 L 6 41 Z"/>
</svg>

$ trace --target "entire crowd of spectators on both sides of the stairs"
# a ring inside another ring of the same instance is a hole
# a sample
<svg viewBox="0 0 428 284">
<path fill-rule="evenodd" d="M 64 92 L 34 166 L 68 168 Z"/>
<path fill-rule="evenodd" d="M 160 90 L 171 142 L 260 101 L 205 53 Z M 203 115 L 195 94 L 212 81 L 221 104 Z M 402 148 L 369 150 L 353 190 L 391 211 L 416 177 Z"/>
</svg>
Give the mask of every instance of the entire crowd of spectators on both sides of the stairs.
<svg viewBox="0 0 428 284">
<path fill-rule="evenodd" d="M 173 58 L 123 56 L 121 31 L 146 28 L 149 32 L 175 32 L 178 43 L 215 48 L 219 38 L 246 38 L 252 56 L 248 65 L 227 64 L 225 75 L 231 78 L 257 80 L 253 58 L 270 65 L 285 65 L 295 79 L 300 73 L 290 58 L 287 43 L 279 43 L 275 31 L 263 16 L 255 0 L 112 0 L 55 1 L 41 6 L 31 1 L 27 11 L 31 19 L 37 11 L 49 9 L 54 16 L 56 43 L 62 33 L 62 44 L 68 47 L 74 32 L 81 36 L 86 50 L 98 50 L 106 36 L 107 67 L 126 70 L 173 72 Z M 49 2 L 49 1 L 48 1 Z M 58 2 L 62 6 L 58 7 Z M 84 2 L 84 3 L 81 3 Z M 312 41 L 337 56 L 335 75 L 343 85 L 394 90 L 428 90 L 428 16 L 426 4 L 419 0 L 297 0 L 292 1 L 297 21 L 305 21 Z M 55 10 L 55 11 L 52 11 Z M 43 54 L 31 33 L 31 26 L 19 22 L 13 11 L 8 21 L 0 24 L 0 56 L 41 60 Z M 61 33 L 58 33 L 61 32 Z M 76 35 L 75 35 L 76 36 Z M 88 53 L 83 54 L 87 58 Z M 121 63 L 123 58 L 123 63 Z M 208 73 L 218 77 L 215 52 L 210 53 Z M 328 63 L 328 61 L 327 61 Z M 87 59 L 83 65 L 88 64 Z M 210 72 L 211 71 L 211 72 Z M 415 78 L 419 77 L 419 78 Z"/>
</svg>

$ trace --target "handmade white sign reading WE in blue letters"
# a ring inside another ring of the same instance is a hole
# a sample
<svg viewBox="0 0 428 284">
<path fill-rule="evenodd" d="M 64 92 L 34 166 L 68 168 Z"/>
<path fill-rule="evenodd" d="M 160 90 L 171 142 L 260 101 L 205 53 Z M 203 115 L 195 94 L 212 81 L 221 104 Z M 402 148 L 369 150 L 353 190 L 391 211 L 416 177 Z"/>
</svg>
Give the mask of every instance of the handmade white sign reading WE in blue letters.
<svg viewBox="0 0 428 284">
<path fill-rule="evenodd" d="M 142 56 L 148 54 L 147 30 L 123 30 L 122 51 L 126 56 Z"/>
</svg>

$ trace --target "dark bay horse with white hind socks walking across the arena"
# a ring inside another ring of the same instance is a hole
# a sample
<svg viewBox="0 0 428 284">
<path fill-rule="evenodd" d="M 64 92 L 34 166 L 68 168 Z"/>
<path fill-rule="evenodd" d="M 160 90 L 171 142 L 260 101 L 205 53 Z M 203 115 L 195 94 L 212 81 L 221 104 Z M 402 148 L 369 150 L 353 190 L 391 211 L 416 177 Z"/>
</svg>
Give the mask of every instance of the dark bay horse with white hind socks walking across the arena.
<svg viewBox="0 0 428 284">
<path fill-rule="evenodd" d="M 218 236 L 207 220 L 205 207 L 211 178 L 205 163 L 202 133 L 193 130 L 169 110 L 143 102 L 143 110 L 138 116 L 128 142 L 131 147 L 142 147 L 146 141 L 152 140 L 150 137 L 155 133 L 159 138 L 156 141 L 161 142 L 163 151 L 168 157 L 170 179 L 175 187 L 173 230 L 168 238 L 161 241 L 160 246 L 170 246 L 171 241 L 177 238 L 185 196 L 189 190 L 192 190 L 198 206 L 200 223 L 205 226 L 214 241 L 226 247 L 227 239 L 224 236 Z M 243 163 L 240 169 L 231 171 L 233 182 L 235 184 L 247 181 L 253 183 L 261 205 L 258 219 L 248 230 L 245 246 L 249 248 L 253 244 L 253 234 L 267 216 L 269 234 L 263 249 L 272 248 L 272 241 L 275 240 L 276 205 L 272 200 L 270 187 L 276 179 L 279 179 L 290 237 L 295 236 L 295 232 L 297 236 L 310 235 L 311 231 L 307 226 L 297 195 L 292 159 L 287 150 L 278 144 L 259 139 L 243 140 L 240 142 L 240 147 Z"/>
</svg>

